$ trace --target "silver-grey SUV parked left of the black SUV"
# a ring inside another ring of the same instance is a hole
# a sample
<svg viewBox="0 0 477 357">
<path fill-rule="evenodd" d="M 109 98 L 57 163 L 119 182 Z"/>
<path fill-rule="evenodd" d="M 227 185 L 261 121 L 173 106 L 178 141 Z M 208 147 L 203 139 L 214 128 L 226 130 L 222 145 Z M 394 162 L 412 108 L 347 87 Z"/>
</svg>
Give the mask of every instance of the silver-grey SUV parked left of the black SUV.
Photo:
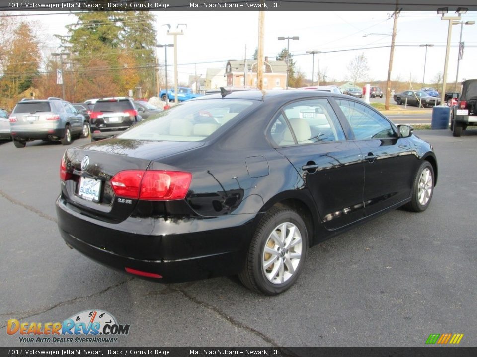
<svg viewBox="0 0 477 357">
<path fill-rule="evenodd" d="M 69 102 L 59 99 L 21 100 L 9 117 L 13 143 L 25 147 L 27 141 L 59 140 L 69 145 L 73 137 L 87 137 L 89 126 Z"/>
</svg>

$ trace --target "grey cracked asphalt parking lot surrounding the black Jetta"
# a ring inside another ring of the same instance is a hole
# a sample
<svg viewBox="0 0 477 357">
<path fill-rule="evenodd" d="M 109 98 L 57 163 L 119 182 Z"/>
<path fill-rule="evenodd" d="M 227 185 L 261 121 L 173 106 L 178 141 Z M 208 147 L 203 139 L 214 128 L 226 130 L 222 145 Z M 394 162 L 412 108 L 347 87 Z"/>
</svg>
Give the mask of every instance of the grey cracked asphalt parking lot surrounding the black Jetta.
<svg viewBox="0 0 477 357">
<path fill-rule="evenodd" d="M 100 309 L 131 325 L 117 346 L 424 346 L 431 333 L 463 333 L 460 345 L 476 346 L 477 130 L 416 134 L 438 158 L 429 209 L 396 210 L 313 247 L 277 297 L 234 277 L 152 283 L 69 249 L 54 205 L 65 146 L 0 144 L 0 345 L 58 345 L 20 343 L 8 319 Z"/>
</svg>

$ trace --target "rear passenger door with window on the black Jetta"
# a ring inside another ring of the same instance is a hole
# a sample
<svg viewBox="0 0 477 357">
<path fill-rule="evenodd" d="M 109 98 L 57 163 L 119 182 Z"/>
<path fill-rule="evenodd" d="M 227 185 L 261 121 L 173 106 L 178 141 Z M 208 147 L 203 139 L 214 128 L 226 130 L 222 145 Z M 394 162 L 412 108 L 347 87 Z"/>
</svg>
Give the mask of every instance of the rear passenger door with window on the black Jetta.
<svg viewBox="0 0 477 357">
<path fill-rule="evenodd" d="M 363 217 L 361 153 L 353 141 L 346 140 L 327 98 L 286 105 L 274 118 L 268 134 L 276 150 L 303 178 L 327 229 Z"/>
</svg>

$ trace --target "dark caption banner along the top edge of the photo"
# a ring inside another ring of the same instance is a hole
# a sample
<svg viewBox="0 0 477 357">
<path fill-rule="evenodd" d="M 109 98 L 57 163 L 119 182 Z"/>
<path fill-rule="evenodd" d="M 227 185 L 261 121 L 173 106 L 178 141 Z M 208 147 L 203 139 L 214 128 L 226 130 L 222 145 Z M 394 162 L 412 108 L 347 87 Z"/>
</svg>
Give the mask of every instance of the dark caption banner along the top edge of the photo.
<svg viewBox="0 0 477 357">
<path fill-rule="evenodd" d="M 435 10 L 458 7 L 477 10 L 476 0 L 0 0 L 0 11 L 314 11 Z"/>
</svg>

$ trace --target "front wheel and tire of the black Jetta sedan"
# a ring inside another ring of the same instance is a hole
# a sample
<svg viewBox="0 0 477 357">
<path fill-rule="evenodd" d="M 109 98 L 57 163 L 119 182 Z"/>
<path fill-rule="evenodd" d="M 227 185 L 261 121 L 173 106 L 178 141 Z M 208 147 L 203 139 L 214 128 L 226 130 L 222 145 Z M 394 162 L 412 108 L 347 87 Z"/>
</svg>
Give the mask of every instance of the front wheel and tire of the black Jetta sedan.
<svg viewBox="0 0 477 357">
<path fill-rule="evenodd" d="M 434 168 L 423 161 L 412 185 L 411 201 L 404 206 L 408 211 L 423 212 L 429 207 L 434 192 Z"/>
</svg>

